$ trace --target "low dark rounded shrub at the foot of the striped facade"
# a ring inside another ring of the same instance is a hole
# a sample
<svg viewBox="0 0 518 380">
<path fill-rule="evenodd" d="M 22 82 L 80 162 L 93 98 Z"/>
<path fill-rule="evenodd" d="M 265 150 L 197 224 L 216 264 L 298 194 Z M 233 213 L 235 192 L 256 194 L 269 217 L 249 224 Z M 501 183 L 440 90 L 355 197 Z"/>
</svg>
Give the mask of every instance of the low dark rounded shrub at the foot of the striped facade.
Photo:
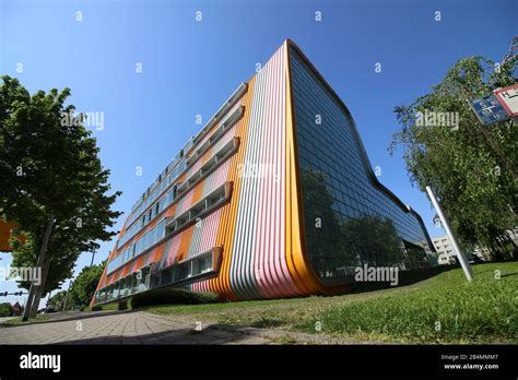
<svg viewBox="0 0 518 380">
<path fill-rule="evenodd" d="M 211 304 L 215 300 L 216 296 L 211 293 L 193 293 L 183 288 L 166 287 L 134 295 L 131 298 L 131 308 L 138 309 L 155 305 Z"/>
</svg>

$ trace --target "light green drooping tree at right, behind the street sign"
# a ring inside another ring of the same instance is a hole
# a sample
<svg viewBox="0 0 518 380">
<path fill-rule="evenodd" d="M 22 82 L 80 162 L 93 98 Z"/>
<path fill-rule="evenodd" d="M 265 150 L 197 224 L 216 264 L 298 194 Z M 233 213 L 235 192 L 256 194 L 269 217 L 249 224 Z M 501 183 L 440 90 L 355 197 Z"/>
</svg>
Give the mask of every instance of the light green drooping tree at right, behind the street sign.
<svg viewBox="0 0 518 380">
<path fill-rule="evenodd" d="M 391 154 L 403 147 L 413 183 L 434 189 L 466 248 L 488 247 L 495 259 L 509 257 L 506 231 L 518 225 L 518 128 L 516 121 L 482 126 L 468 100 L 516 82 L 517 57 L 507 58 L 502 66 L 460 59 L 429 94 L 396 107 L 402 129 L 389 147 Z M 417 112 L 457 115 L 458 124 L 423 126 Z"/>
</svg>

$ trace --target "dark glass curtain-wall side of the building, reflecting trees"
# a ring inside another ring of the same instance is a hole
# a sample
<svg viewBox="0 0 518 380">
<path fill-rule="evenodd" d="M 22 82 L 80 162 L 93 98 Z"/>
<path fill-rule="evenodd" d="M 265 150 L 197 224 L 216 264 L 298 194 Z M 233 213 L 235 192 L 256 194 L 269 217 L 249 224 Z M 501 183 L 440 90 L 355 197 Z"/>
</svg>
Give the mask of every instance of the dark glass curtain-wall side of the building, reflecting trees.
<svg viewBox="0 0 518 380">
<path fill-rule="evenodd" d="M 403 271 L 433 265 L 419 216 L 373 179 L 350 114 L 293 48 L 291 73 L 306 249 L 315 273 L 332 283 L 365 264 Z"/>
</svg>

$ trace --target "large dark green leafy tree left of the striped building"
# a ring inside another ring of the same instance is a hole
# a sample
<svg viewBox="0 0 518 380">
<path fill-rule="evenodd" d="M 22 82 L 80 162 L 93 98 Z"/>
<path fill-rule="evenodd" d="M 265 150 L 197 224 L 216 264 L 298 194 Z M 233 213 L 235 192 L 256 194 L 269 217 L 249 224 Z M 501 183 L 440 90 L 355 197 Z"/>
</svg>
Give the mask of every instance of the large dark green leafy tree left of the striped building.
<svg viewBox="0 0 518 380">
<path fill-rule="evenodd" d="M 13 241 L 13 266 L 35 266 L 46 226 L 55 219 L 42 268 L 39 297 L 69 278 L 82 252 L 98 249 L 119 212 L 108 195 L 109 170 L 83 124 L 83 116 L 64 105 L 70 90 L 31 95 L 16 79 L 0 85 L 0 217 L 17 223 L 27 239 Z M 45 269 L 49 269 L 46 271 Z M 47 276 L 48 273 L 48 276 Z M 30 288 L 30 282 L 20 286 Z"/>
</svg>

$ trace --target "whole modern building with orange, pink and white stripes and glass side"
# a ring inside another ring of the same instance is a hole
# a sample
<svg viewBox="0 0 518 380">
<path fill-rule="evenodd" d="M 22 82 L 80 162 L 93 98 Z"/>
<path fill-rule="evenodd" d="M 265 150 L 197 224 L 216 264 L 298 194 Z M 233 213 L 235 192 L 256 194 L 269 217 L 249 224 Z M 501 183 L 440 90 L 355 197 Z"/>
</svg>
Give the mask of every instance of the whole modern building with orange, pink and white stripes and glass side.
<svg viewBox="0 0 518 380">
<path fill-rule="evenodd" d="M 360 265 L 436 265 L 345 105 L 286 40 L 129 213 L 92 300 L 177 286 L 229 300 L 346 292 Z"/>
</svg>

